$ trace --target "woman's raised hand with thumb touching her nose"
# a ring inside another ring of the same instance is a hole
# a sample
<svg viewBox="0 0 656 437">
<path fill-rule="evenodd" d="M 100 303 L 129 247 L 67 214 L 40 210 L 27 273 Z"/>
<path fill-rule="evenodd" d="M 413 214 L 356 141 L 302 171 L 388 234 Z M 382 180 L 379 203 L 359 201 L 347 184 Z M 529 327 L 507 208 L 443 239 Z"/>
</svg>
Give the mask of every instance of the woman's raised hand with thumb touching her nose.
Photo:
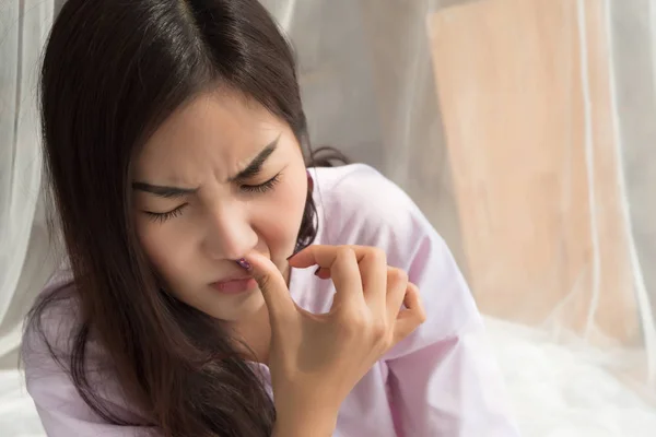
<svg viewBox="0 0 656 437">
<path fill-rule="evenodd" d="M 332 279 L 336 294 L 324 315 L 296 306 L 269 259 L 251 253 L 246 260 L 269 311 L 269 367 L 281 420 L 335 420 L 374 363 L 425 320 L 417 287 L 377 248 L 311 246 L 290 259 L 292 267 L 318 265 L 320 276 Z"/>
</svg>

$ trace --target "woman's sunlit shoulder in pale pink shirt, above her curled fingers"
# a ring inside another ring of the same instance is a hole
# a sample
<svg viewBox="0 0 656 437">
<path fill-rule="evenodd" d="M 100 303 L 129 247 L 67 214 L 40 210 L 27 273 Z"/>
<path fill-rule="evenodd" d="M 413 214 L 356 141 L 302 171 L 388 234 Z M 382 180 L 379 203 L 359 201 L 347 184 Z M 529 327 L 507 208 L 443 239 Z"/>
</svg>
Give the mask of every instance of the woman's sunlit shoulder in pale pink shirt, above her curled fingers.
<svg viewBox="0 0 656 437">
<path fill-rule="evenodd" d="M 319 243 L 376 246 L 403 268 L 426 238 L 442 240 L 410 197 L 364 164 L 312 169 Z M 446 247 L 444 247 L 446 250 Z"/>
</svg>

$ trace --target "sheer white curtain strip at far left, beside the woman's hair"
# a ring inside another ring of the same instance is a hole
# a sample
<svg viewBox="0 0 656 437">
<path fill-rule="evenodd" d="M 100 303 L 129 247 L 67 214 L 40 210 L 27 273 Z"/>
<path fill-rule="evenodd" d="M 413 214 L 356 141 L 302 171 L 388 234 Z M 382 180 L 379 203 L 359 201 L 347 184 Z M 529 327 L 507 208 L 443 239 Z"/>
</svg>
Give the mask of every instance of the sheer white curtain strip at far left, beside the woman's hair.
<svg viewBox="0 0 656 437">
<path fill-rule="evenodd" d="M 0 3 L 0 357 L 15 367 L 21 321 L 51 273 L 40 199 L 36 84 L 52 1 Z"/>
</svg>

